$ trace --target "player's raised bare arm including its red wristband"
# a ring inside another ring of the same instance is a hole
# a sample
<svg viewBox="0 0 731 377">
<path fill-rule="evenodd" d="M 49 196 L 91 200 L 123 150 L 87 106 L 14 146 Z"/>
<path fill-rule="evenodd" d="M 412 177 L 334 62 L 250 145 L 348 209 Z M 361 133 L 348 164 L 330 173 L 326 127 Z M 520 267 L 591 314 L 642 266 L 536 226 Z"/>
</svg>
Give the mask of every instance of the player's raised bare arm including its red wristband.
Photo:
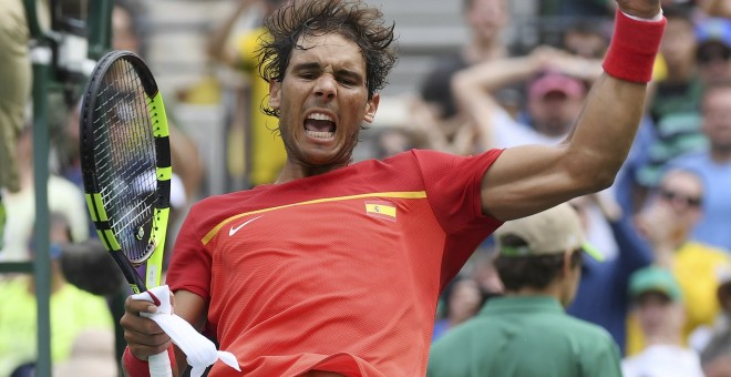
<svg viewBox="0 0 731 377">
<path fill-rule="evenodd" d="M 666 21 L 660 0 L 620 0 L 605 73 L 558 146 L 508 149 L 485 173 L 483 213 L 507 221 L 603 190 L 627 157 Z"/>
</svg>

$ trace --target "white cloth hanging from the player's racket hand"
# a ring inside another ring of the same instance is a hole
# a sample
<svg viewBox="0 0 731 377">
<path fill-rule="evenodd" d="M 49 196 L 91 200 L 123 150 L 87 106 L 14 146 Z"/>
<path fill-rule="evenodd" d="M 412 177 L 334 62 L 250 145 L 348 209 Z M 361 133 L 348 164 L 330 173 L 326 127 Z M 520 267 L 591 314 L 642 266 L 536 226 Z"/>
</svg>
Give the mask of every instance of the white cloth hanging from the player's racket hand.
<svg viewBox="0 0 731 377">
<path fill-rule="evenodd" d="M 198 333 L 185 319 L 173 314 L 169 292 L 167 285 L 161 285 L 147 292 L 132 295 L 132 298 L 144 299 L 155 304 L 159 302 L 157 313 L 142 313 L 142 315 L 156 322 L 163 332 L 171 337 L 173 343 L 183 350 L 188 365 L 193 368 L 191 370 L 191 377 L 200 377 L 206 368 L 219 358 L 229 367 L 241 371 L 234 354 L 217 350 L 213 342 Z M 151 294 L 157 299 L 154 299 Z"/>
</svg>

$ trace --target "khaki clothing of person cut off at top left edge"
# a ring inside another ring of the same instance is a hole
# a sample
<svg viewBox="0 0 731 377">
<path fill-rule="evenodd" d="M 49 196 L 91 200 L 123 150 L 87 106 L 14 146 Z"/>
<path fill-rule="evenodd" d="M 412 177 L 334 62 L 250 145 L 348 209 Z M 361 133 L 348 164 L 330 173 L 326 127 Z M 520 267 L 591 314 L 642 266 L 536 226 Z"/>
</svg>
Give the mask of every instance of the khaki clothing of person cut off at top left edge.
<svg viewBox="0 0 731 377">
<path fill-rule="evenodd" d="M 31 94 L 29 32 L 22 0 L 0 1 L 0 188 L 20 190 L 16 145 Z"/>
</svg>

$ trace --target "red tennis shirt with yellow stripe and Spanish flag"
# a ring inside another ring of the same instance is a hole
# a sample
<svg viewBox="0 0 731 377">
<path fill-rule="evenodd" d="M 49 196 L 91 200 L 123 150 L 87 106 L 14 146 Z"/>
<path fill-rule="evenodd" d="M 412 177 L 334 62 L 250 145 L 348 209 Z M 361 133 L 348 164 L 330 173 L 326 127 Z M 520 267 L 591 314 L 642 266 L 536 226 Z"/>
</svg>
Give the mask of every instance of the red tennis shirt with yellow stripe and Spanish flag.
<svg viewBox="0 0 731 377">
<path fill-rule="evenodd" d="M 411 151 L 205 198 L 167 284 L 207 300 L 246 376 L 423 376 L 439 293 L 501 225 L 480 194 L 500 153 Z"/>
</svg>

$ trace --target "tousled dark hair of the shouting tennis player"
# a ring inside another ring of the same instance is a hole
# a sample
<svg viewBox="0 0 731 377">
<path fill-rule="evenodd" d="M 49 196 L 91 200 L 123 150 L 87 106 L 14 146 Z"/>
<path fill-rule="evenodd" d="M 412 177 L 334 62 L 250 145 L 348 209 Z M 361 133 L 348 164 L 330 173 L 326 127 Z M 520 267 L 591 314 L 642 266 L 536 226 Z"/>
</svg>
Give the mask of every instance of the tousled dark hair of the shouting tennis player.
<svg viewBox="0 0 731 377">
<path fill-rule="evenodd" d="M 366 60 L 368 99 L 383 89 L 398 60 L 391 44 L 395 23 L 385 26 L 383 13 L 360 0 L 291 0 L 265 20 L 270 33 L 259 50 L 259 73 L 266 81 L 282 81 L 291 53 L 303 50 L 302 35 L 338 33 L 360 48 Z M 267 114 L 279 111 L 265 108 Z"/>
</svg>

